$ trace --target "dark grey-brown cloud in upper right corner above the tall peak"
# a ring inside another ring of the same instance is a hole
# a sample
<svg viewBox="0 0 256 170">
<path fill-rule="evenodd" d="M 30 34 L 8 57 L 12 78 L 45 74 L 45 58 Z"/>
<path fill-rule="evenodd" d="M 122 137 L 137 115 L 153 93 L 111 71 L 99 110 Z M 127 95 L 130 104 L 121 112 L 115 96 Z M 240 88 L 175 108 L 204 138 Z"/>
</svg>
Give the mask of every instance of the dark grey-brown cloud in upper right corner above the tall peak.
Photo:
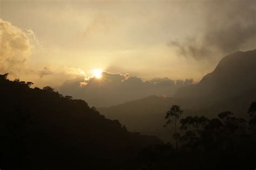
<svg viewBox="0 0 256 170">
<path fill-rule="evenodd" d="M 168 43 L 179 55 L 211 60 L 216 53 L 227 55 L 255 47 L 256 1 L 206 1 L 202 4 L 205 19 L 201 33 Z"/>
</svg>

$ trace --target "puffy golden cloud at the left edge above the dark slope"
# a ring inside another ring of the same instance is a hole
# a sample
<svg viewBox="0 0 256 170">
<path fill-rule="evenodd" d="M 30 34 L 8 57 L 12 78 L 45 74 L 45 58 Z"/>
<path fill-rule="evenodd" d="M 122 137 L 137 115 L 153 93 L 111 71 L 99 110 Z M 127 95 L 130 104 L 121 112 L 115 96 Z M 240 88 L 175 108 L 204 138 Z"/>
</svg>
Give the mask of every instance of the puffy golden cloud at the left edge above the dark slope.
<svg viewBox="0 0 256 170">
<path fill-rule="evenodd" d="M 0 19 L 0 72 L 17 74 L 24 69 L 33 46 L 18 27 Z"/>
</svg>

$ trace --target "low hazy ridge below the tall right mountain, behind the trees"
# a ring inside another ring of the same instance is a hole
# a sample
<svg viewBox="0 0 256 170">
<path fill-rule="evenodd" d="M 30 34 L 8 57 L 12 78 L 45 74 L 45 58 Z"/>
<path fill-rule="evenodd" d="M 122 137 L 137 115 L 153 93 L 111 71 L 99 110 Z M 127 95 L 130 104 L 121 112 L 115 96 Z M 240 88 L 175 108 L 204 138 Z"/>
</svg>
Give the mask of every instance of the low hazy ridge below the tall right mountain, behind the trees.
<svg viewBox="0 0 256 170">
<path fill-rule="evenodd" d="M 214 118 L 220 112 L 231 111 L 235 116 L 248 119 L 247 109 L 252 101 L 256 101 L 256 90 L 246 91 L 207 105 L 200 105 L 195 100 L 149 96 L 109 108 L 98 108 L 98 110 L 107 118 L 118 119 L 130 131 L 138 131 L 157 136 L 164 141 L 170 141 L 172 136 L 163 125 L 165 114 L 171 105 L 180 105 L 184 110 L 181 117 L 204 115 Z"/>
</svg>

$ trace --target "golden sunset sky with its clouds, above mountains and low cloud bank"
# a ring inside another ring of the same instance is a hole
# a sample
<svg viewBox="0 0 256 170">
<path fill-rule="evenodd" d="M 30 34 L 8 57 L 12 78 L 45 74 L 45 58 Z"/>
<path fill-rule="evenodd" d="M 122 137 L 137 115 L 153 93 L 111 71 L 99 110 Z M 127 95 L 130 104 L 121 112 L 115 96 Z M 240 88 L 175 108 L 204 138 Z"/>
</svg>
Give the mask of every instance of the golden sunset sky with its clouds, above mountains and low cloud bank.
<svg viewBox="0 0 256 170">
<path fill-rule="evenodd" d="M 200 79 L 255 49 L 256 1 L 0 0 L 0 74 L 60 87 L 93 69 Z"/>
</svg>

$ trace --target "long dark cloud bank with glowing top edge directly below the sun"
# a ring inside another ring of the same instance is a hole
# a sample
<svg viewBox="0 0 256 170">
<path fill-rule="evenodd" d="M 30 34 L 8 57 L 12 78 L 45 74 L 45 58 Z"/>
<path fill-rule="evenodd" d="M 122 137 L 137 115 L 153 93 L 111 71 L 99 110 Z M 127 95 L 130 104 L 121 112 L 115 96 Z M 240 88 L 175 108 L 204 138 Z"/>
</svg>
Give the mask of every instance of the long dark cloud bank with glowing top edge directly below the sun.
<svg viewBox="0 0 256 170">
<path fill-rule="evenodd" d="M 64 95 L 81 98 L 91 106 L 96 107 L 120 104 L 150 95 L 173 96 L 176 90 L 193 81 L 173 81 L 164 78 L 154 78 L 143 81 L 129 74 L 112 74 L 103 72 L 102 78 L 77 76 L 66 80 L 59 91 Z"/>
</svg>

